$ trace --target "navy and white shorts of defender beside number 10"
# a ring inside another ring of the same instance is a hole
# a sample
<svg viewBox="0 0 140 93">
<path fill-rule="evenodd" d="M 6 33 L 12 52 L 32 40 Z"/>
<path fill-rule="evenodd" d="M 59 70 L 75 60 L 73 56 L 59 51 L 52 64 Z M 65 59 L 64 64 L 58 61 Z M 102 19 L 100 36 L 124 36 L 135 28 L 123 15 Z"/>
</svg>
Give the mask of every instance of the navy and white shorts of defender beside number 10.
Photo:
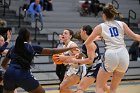
<svg viewBox="0 0 140 93">
<path fill-rule="evenodd" d="M 100 67 L 101 67 L 101 63 L 97 64 L 92 69 L 88 69 L 85 77 L 94 77 L 94 78 L 96 78 Z"/>
</svg>

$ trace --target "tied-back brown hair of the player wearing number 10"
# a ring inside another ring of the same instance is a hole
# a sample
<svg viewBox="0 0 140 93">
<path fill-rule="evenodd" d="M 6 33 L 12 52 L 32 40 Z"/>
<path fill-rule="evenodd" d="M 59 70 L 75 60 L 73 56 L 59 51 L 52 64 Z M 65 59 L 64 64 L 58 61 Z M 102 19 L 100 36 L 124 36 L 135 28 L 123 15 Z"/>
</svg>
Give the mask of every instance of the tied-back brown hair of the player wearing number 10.
<svg viewBox="0 0 140 93">
<path fill-rule="evenodd" d="M 106 15 L 107 19 L 112 19 L 115 16 L 118 16 L 120 18 L 123 18 L 120 12 L 111 4 L 108 3 L 104 8 L 103 8 L 103 13 Z"/>
</svg>

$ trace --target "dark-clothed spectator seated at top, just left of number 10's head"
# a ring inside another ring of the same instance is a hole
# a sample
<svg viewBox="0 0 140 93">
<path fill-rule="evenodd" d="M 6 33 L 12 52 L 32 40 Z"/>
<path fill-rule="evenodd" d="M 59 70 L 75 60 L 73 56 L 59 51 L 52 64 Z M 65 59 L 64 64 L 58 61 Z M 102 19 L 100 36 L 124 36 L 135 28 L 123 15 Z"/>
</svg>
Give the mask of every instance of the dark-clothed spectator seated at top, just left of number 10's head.
<svg viewBox="0 0 140 93">
<path fill-rule="evenodd" d="M 100 3 L 99 0 L 91 0 L 90 4 L 90 13 L 94 13 L 95 17 L 98 16 L 98 13 L 103 10 L 105 4 Z"/>
</svg>

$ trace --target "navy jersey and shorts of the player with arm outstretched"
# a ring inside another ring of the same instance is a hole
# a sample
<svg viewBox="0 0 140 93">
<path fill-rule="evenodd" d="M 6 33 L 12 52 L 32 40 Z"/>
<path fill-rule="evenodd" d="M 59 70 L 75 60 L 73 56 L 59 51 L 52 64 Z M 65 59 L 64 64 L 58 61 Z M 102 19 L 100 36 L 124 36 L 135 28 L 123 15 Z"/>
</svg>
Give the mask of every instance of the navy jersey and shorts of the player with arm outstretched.
<svg viewBox="0 0 140 93">
<path fill-rule="evenodd" d="M 29 55 L 31 58 L 33 58 L 36 53 L 40 54 L 43 49 L 40 46 L 32 46 L 29 43 L 25 43 L 24 45 L 28 50 L 27 55 Z M 28 92 L 36 89 L 39 86 L 39 82 L 30 72 L 30 61 L 16 54 L 14 51 L 14 46 L 10 48 L 7 57 L 11 59 L 11 62 L 4 74 L 4 89 L 12 91 L 17 87 L 21 87 Z"/>
</svg>

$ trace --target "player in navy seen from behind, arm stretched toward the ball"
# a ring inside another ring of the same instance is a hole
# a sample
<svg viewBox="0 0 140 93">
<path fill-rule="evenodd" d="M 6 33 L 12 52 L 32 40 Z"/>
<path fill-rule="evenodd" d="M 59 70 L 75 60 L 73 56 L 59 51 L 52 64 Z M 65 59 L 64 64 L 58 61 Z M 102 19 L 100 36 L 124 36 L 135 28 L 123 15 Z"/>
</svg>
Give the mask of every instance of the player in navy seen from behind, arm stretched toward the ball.
<svg viewBox="0 0 140 93">
<path fill-rule="evenodd" d="M 48 49 L 33 46 L 29 44 L 30 38 L 30 32 L 26 28 L 21 28 L 15 45 L 9 49 L 6 57 L 2 61 L 2 67 L 6 69 L 3 80 L 3 93 L 14 93 L 17 87 L 21 87 L 29 93 L 45 93 L 45 90 L 30 72 L 35 54 L 52 55 L 73 49 Z M 8 67 L 7 63 L 9 60 L 11 62 Z"/>
</svg>

